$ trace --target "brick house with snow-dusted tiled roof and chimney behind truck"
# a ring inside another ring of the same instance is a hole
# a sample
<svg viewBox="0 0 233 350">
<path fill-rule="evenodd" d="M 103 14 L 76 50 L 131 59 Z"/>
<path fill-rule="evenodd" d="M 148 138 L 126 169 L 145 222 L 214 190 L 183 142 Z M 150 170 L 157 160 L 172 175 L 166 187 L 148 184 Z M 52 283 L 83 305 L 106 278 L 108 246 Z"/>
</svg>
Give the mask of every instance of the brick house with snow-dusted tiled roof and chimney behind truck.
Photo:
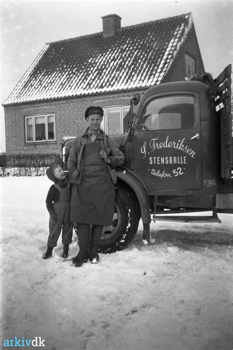
<svg viewBox="0 0 233 350">
<path fill-rule="evenodd" d="M 60 152 L 65 136 L 87 127 L 89 105 L 104 109 L 102 128 L 123 133 L 130 98 L 156 84 L 204 71 L 192 14 L 46 44 L 3 103 L 6 154 Z"/>
</svg>

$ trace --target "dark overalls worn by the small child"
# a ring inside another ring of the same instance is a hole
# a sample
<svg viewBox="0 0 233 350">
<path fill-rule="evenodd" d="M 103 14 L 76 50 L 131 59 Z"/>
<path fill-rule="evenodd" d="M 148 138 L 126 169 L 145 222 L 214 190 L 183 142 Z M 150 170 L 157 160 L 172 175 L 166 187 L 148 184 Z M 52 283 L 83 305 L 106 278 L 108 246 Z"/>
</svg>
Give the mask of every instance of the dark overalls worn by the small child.
<svg viewBox="0 0 233 350">
<path fill-rule="evenodd" d="M 70 221 L 70 185 L 67 182 L 66 188 L 62 189 L 58 184 L 54 184 L 59 191 L 59 202 L 53 203 L 57 223 L 49 220 L 48 246 L 56 247 L 60 232 L 62 230 L 62 244 L 72 242 L 73 223 Z"/>
</svg>

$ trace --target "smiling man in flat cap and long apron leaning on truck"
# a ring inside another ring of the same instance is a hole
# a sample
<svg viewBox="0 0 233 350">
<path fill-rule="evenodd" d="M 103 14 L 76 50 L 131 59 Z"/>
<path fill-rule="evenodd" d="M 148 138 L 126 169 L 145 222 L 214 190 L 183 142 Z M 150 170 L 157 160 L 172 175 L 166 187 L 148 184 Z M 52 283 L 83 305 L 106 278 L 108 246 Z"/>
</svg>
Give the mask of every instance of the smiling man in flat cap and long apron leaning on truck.
<svg viewBox="0 0 233 350">
<path fill-rule="evenodd" d="M 87 108 L 85 119 L 89 126 L 76 137 L 67 162 L 72 183 L 70 215 L 77 224 L 79 238 L 74 266 L 82 266 L 88 258 L 98 263 L 103 226 L 111 225 L 113 220 L 115 167 L 123 164 L 124 155 L 116 141 L 100 129 L 103 114 L 101 107 Z"/>
</svg>

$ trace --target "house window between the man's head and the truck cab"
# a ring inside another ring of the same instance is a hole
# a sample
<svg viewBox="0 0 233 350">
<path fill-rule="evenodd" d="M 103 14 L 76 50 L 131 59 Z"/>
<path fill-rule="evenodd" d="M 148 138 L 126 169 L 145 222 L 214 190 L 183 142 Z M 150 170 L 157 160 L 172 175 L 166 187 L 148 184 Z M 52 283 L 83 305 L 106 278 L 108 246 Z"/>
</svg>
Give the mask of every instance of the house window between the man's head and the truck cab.
<svg viewBox="0 0 233 350">
<path fill-rule="evenodd" d="M 103 108 L 104 118 L 101 128 L 108 135 L 118 135 L 124 132 L 123 119 L 129 111 L 129 106 L 116 106 Z"/>
</svg>

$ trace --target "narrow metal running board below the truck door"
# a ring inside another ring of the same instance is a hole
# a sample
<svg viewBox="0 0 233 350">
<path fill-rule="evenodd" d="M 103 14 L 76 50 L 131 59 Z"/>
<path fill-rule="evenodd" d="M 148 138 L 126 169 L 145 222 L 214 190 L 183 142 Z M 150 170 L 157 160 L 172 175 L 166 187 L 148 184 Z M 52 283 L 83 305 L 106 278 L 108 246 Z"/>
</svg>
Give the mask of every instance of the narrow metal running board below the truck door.
<svg viewBox="0 0 233 350">
<path fill-rule="evenodd" d="M 153 215 L 153 221 L 176 221 L 179 223 L 221 223 L 217 215 L 215 216 L 156 216 Z"/>
</svg>

